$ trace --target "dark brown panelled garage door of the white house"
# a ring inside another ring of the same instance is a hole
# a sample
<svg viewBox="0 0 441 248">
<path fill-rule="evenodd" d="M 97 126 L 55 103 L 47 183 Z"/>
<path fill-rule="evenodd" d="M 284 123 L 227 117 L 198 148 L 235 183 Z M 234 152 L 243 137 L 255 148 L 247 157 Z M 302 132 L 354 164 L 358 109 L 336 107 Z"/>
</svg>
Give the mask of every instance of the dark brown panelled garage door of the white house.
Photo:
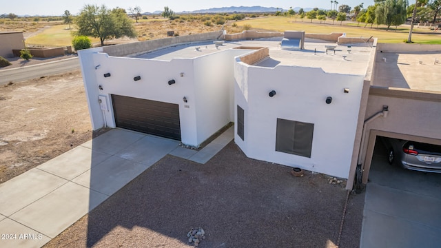
<svg viewBox="0 0 441 248">
<path fill-rule="evenodd" d="M 181 141 L 179 105 L 112 95 L 116 127 Z"/>
</svg>

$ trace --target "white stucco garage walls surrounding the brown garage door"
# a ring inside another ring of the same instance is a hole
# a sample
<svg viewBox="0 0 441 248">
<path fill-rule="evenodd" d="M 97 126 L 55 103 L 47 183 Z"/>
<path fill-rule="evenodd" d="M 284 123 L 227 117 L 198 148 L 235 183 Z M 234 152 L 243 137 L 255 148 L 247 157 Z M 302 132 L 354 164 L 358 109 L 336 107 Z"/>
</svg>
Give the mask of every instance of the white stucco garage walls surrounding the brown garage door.
<svg viewBox="0 0 441 248">
<path fill-rule="evenodd" d="M 234 119 L 234 57 L 250 50 L 225 50 L 195 59 L 133 59 L 81 50 L 81 68 L 94 130 L 115 127 L 111 95 L 130 96 L 179 105 L 181 141 L 197 147 Z M 99 65 L 97 67 L 97 65 Z M 95 69 L 96 68 L 96 69 Z M 105 78 L 103 74 L 110 73 Z M 183 73 L 183 76 L 181 76 Z M 134 76 L 141 76 L 134 81 Z M 174 85 L 168 81 L 174 79 Z M 103 90 L 98 90 L 99 85 Z M 99 107 L 99 95 L 109 110 Z M 187 103 L 183 102 L 183 97 Z"/>
</svg>

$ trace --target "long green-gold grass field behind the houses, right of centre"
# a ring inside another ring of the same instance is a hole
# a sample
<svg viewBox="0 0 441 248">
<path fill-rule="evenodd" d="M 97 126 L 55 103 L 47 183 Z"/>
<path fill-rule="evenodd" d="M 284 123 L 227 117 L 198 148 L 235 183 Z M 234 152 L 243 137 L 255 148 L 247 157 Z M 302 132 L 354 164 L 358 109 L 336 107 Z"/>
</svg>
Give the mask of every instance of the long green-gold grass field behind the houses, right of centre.
<svg viewBox="0 0 441 248">
<path fill-rule="evenodd" d="M 378 38 L 380 43 L 402 43 L 407 40 L 409 35 L 409 28 L 407 25 L 398 26 L 398 30 L 395 30 L 395 26 L 390 27 L 389 31 L 386 31 L 386 27 L 380 25 L 378 28 L 373 25 L 367 25 L 360 23 L 357 27 L 357 23 L 351 23 L 343 21 L 340 25 L 340 21 L 335 21 L 334 25 L 332 20 L 327 20 L 325 23 L 320 24 L 318 20 L 294 18 L 294 17 L 263 17 L 257 19 L 249 19 L 245 21 L 236 22 L 237 25 L 243 26 L 249 24 L 252 28 L 263 30 L 274 30 L 283 32 L 285 30 L 302 30 L 309 33 L 322 33 L 328 34 L 331 32 L 346 33 L 347 37 L 363 37 L 369 38 L 371 36 Z M 420 44 L 441 44 L 441 32 L 433 32 L 429 29 L 414 28 L 414 32 L 427 32 L 427 34 L 412 34 L 412 41 Z"/>
</svg>

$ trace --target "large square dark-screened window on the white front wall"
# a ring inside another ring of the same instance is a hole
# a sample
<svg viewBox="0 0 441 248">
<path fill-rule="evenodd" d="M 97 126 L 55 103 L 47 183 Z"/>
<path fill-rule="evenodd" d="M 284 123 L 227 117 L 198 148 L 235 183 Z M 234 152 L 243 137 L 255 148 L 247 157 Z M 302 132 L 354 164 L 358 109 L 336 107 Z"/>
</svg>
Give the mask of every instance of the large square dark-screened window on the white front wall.
<svg viewBox="0 0 441 248">
<path fill-rule="evenodd" d="M 313 123 L 277 118 L 276 151 L 311 158 Z"/>
</svg>

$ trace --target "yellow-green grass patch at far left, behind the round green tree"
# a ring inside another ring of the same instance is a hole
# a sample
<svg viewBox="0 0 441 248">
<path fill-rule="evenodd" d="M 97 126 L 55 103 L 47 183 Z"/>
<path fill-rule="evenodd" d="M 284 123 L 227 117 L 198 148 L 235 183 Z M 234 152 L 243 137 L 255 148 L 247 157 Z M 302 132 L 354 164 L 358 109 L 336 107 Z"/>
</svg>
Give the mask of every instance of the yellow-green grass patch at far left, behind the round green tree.
<svg viewBox="0 0 441 248">
<path fill-rule="evenodd" d="M 26 39 L 26 44 L 37 44 L 37 45 L 51 45 L 51 46 L 66 46 L 72 45 L 72 39 L 74 35 L 72 31 L 74 30 L 71 25 L 71 30 L 68 29 L 69 25 L 54 25 L 50 28 L 46 28 L 43 32 L 35 35 L 34 37 L 29 37 Z M 99 39 L 91 38 L 92 43 L 99 42 Z"/>
</svg>

